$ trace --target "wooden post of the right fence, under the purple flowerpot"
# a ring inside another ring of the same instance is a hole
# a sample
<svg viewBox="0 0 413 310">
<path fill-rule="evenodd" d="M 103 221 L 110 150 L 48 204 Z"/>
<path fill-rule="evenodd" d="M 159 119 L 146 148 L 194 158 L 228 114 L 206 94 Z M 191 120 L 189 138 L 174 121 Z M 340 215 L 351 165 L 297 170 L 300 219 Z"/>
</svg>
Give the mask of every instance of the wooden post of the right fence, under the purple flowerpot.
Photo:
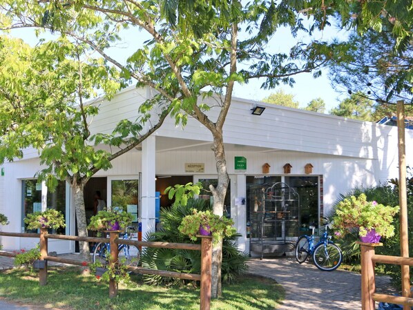
<svg viewBox="0 0 413 310">
<path fill-rule="evenodd" d="M 382 243 L 357 242 L 361 248 L 361 309 L 374 310 L 376 304 L 373 294 L 376 291 L 376 280 L 374 278 L 374 247 L 383 245 Z"/>
</svg>

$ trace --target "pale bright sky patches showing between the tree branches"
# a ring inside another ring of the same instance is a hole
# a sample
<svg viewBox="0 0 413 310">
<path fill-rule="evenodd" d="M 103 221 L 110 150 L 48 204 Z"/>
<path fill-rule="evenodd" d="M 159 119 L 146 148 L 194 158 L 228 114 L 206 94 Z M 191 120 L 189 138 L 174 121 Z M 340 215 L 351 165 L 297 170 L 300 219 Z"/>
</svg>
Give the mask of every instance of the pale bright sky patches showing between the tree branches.
<svg viewBox="0 0 413 310">
<path fill-rule="evenodd" d="M 20 37 L 31 46 L 35 46 L 39 41 L 39 38 L 35 36 L 35 32 L 32 29 L 24 28 L 12 30 L 10 35 L 13 37 Z M 311 39 L 330 40 L 334 37 L 343 39 L 345 36 L 346 33 L 343 32 L 343 30 L 339 31 L 337 27 L 330 26 L 323 32 L 317 32 Z M 50 39 L 51 36 L 49 34 L 43 34 L 41 37 Z M 149 38 L 144 32 L 137 32 L 136 30 L 133 30 L 133 32 L 131 30 L 126 30 L 122 32 L 121 37 L 124 43 L 122 43 L 121 46 L 111 48 L 110 53 L 111 55 L 115 55 L 117 59 L 120 57 L 123 61 L 126 61 L 127 57 L 131 55 L 136 48 L 142 46 L 143 42 Z M 294 38 L 287 28 L 280 28 L 276 32 L 276 35 L 269 41 L 266 48 L 270 52 L 288 52 L 289 48 L 294 46 L 297 41 L 309 42 L 309 39 L 310 37 L 305 33 L 301 33 L 298 37 Z M 300 102 L 300 107 L 302 108 L 307 106 L 311 99 L 320 97 L 325 101 L 326 113 L 338 106 L 340 101 L 345 99 L 347 95 L 346 90 L 343 90 L 341 93 L 334 90 L 329 82 L 327 69 L 323 69 L 321 77 L 316 79 L 312 77 L 311 73 L 300 73 L 299 75 L 296 75 L 294 79 L 296 83 L 292 88 L 288 85 L 280 84 L 277 88 L 270 90 L 260 88 L 262 80 L 250 81 L 247 85 L 237 84 L 234 88 L 233 95 L 235 97 L 260 101 L 271 95 L 271 93 L 276 93 L 277 90 L 282 89 L 285 93 L 294 95 L 294 99 Z"/>
</svg>

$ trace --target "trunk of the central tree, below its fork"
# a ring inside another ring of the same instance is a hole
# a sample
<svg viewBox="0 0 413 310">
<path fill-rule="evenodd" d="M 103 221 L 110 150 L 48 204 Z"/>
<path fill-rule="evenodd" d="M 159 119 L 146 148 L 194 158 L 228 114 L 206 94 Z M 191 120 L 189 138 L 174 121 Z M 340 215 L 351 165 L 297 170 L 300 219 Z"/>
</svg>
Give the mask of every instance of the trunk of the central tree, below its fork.
<svg viewBox="0 0 413 310">
<path fill-rule="evenodd" d="M 213 193 L 213 213 L 222 216 L 224 214 L 224 200 L 227 194 L 229 176 L 227 173 L 227 162 L 225 160 L 224 140 L 222 132 L 213 133 L 213 151 L 218 173 L 218 185 L 216 188 L 211 186 Z M 221 290 L 221 266 L 222 266 L 222 239 L 214 240 L 212 249 L 212 286 L 211 297 L 222 296 Z"/>
</svg>

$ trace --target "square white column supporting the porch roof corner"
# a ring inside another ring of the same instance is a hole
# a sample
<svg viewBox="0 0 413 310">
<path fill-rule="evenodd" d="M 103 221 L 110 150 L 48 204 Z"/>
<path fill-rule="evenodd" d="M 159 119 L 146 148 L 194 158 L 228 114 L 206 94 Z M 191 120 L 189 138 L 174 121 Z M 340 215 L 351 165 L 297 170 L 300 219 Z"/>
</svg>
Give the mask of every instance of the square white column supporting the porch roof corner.
<svg viewBox="0 0 413 310">
<path fill-rule="evenodd" d="M 155 167 L 156 147 L 155 136 L 150 136 L 142 142 L 142 201 L 140 218 L 142 222 L 142 238 L 146 233 L 155 231 Z"/>
</svg>

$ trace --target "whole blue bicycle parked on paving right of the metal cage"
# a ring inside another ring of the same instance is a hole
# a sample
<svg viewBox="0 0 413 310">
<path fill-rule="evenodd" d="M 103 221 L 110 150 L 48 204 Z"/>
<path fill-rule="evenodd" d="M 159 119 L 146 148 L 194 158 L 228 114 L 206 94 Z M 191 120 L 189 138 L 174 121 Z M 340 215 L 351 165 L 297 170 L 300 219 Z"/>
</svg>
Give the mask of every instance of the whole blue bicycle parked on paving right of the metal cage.
<svg viewBox="0 0 413 310">
<path fill-rule="evenodd" d="M 323 271 L 336 270 L 343 262 L 343 253 L 340 248 L 332 242 L 332 236 L 327 234 L 329 223 L 326 221 L 325 232 L 320 240 L 314 245 L 315 223 L 309 226 L 311 235 L 301 235 L 296 243 L 296 260 L 300 264 L 305 262 L 309 255 L 312 256 L 316 267 Z"/>
</svg>

